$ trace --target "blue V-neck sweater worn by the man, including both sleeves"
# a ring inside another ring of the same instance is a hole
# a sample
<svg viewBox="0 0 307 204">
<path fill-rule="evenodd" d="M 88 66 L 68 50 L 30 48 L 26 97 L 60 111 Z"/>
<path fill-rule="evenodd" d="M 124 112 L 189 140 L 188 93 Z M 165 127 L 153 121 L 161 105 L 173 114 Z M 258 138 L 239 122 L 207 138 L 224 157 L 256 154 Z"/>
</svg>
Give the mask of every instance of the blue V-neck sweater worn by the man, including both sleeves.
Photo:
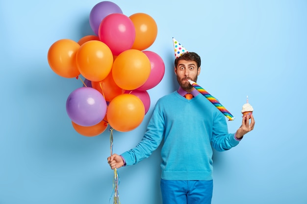
<svg viewBox="0 0 307 204">
<path fill-rule="evenodd" d="M 142 141 L 122 154 L 126 165 L 148 158 L 162 140 L 164 180 L 212 180 L 212 147 L 225 151 L 239 143 L 224 114 L 202 94 L 187 100 L 177 91 L 157 101 Z"/>
</svg>

